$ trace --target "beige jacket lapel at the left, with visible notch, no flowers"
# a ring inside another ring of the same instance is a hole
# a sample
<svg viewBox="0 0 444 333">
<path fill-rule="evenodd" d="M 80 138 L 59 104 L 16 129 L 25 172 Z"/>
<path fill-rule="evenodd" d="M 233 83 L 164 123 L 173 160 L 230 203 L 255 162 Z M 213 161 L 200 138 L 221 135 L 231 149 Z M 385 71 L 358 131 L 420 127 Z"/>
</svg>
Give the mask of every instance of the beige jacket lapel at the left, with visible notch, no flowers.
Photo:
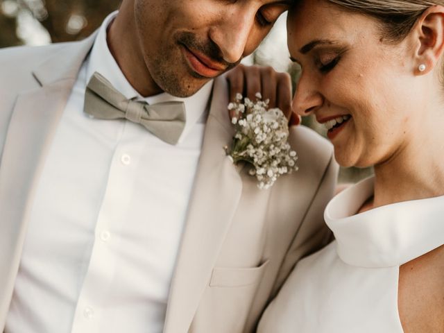
<svg viewBox="0 0 444 333">
<path fill-rule="evenodd" d="M 0 328 L 8 314 L 35 185 L 94 38 L 61 46 L 33 72 L 40 87 L 20 94 L 12 110 L 0 164 Z"/>
</svg>

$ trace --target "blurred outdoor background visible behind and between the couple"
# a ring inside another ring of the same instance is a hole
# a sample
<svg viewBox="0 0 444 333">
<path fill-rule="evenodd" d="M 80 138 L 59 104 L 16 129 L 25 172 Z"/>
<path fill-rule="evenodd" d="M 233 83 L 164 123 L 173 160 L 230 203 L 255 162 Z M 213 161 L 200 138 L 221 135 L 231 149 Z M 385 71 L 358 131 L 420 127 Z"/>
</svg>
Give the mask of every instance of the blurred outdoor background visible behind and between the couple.
<svg viewBox="0 0 444 333">
<path fill-rule="evenodd" d="M 0 48 L 81 40 L 94 32 L 103 19 L 119 7 L 120 1 L 0 0 Z M 243 62 L 288 71 L 296 87 L 300 69 L 289 60 L 286 19 L 287 16 L 282 15 L 257 51 Z M 303 119 L 303 123 L 325 136 L 324 128 L 312 117 Z M 372 172 L 371 169 L 342 168 L 339 182 L 357 182 Z"/>
</svg>

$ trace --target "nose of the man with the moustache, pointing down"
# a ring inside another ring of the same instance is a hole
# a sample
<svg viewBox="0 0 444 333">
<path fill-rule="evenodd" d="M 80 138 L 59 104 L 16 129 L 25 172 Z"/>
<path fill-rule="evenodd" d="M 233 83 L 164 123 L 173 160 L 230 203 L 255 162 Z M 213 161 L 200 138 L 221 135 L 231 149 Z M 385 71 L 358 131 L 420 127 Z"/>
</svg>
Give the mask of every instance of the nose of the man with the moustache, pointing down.
<svg viewBox="0 0 444 333">
<path fill-rule="evenodd" d="M 254 10 L 235 8 L 210 28 L 210 39 L 219 46 L 223 60 L 235 63 L 254 50 L 246 51 L 255 16 Z"/>
</svg>

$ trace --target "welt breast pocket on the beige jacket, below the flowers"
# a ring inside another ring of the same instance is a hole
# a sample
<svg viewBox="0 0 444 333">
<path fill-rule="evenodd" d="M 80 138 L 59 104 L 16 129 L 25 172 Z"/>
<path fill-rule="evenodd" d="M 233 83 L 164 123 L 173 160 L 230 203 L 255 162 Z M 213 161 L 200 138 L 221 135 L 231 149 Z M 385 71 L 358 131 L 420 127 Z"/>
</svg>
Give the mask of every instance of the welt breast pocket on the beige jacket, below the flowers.
<svg viewBox="0 0 444 333">
<path fill-rule="evenodd" d="M 257 267 L 228 268 L 215 267 L 212 272 L 210 287 L 245 287 L 257 284 L 264 274 L 268 261 Z"/>
</svg>

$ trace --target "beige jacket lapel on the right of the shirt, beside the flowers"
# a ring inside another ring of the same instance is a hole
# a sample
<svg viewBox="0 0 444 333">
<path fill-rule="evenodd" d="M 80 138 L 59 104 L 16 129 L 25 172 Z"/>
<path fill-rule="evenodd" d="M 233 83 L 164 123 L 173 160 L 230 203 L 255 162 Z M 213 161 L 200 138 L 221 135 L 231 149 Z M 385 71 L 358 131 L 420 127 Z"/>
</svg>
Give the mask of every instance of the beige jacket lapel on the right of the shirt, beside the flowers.
<svg viewBox="0 0 444 333">
<path fill-rule="evenodd" d="M 164 333 L 188 331 L 241 197 L 239 168 L 234 167 L 223 148 L 230 144 L 234 134 L 228 119 L 227 95 L 225 78 L 216 79 L 194 192 L 171 283 Z"/>
</svg>

